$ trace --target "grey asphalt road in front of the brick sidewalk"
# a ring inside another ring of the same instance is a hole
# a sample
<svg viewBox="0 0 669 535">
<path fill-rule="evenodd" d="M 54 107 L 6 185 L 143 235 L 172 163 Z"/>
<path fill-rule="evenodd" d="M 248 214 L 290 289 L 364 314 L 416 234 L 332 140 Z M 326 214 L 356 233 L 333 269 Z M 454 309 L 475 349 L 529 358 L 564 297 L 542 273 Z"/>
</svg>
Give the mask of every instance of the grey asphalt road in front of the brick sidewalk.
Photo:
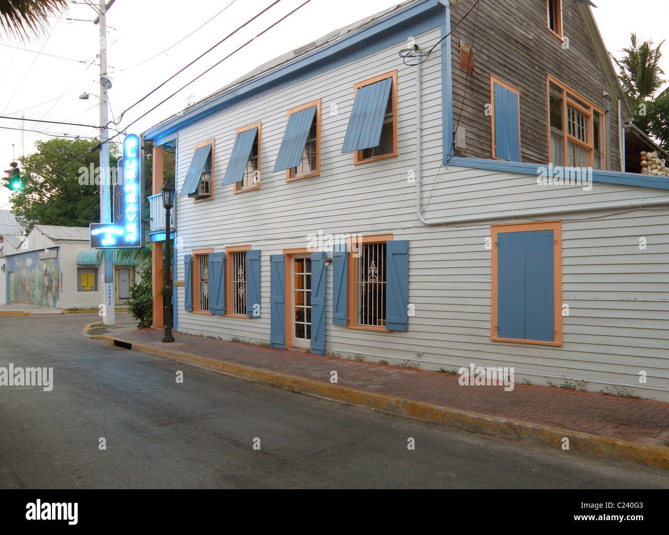
<svg viewBox="0 0 669 535">
<path fill-rule="evenodd" d="M 530 448 L 112 347 L 82 334 L 91 321 L 0 317 L 1 367 L 54 368 L 52 391 L 0 386 L 0 488 L 669 488 L 666 470 Z"/>
</svg>

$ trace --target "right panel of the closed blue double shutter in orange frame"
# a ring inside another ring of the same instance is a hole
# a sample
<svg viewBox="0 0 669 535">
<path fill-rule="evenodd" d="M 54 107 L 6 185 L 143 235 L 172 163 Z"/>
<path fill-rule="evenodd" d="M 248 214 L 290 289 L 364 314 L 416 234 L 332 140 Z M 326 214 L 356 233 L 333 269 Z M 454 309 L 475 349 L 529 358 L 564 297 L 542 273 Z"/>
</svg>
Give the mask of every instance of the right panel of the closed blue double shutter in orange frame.
<svg viewBox="0 0 669 535">
<path fill-rule="evenodd" d="M 525 234 L 525 338 L 555 341 L 553 230 Z"/>
</svg>

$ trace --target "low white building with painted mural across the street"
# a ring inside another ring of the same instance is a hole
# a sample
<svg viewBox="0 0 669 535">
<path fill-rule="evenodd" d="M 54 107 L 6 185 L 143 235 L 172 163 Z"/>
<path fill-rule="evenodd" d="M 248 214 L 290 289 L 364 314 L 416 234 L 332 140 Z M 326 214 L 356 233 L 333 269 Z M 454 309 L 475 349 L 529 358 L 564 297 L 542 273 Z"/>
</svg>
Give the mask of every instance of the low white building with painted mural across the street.
<svg viewBox="0 0 669 535">
<path fill-rule="evenodd" d="M 5 236 L 1 254 L 5 303 L 97 309 L 104 302 L 88 228 L 35 225 L 25 236 Z M 135 266 L 115 270 L 116 303 L 122 305 L 130 297 Z"/>
</svg>

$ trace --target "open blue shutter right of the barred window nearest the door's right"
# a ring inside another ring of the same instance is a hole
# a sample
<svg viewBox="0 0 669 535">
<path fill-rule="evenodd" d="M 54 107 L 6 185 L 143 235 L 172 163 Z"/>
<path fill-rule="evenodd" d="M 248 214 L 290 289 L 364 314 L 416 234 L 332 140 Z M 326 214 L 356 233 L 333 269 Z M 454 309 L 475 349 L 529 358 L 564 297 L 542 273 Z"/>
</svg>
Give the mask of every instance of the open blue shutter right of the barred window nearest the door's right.
<svg viewBox="0 0 669 535">
<path fill-rule="evenodd" d="M 409 329 L 409 242 L 385 242 L 385 328 L 390 331 Z"/>
</svg>

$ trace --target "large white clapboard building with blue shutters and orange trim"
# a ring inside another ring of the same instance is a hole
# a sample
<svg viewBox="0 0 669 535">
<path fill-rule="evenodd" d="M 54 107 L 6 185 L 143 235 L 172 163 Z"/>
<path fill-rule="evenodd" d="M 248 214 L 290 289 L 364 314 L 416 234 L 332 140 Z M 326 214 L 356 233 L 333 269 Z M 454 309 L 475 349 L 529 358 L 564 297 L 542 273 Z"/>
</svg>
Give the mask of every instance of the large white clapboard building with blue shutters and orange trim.
<svg viewBox="0 0 669 535">
<path fill-rule="evenodd" d="M 669 179 L 619 171 L 624 99 L 578 1 L 407 2 L 259 67 L 145 132 L 177 328 L 669 400 Z"/>
</svg>

